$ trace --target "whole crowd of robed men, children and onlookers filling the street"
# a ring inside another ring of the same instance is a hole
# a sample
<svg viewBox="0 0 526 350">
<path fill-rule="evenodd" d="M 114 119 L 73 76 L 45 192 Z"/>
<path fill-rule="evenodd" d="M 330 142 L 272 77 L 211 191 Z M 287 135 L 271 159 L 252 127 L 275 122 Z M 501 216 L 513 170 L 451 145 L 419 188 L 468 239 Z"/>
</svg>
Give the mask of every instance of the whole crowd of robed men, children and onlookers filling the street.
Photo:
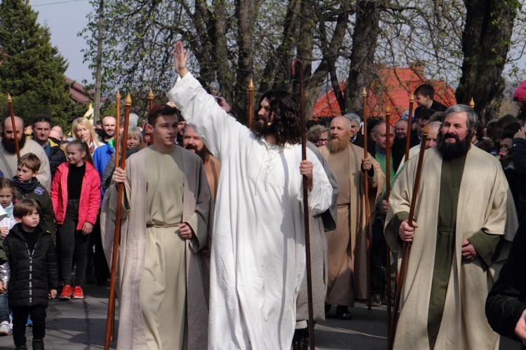
<svg viewBox="0 0 526 350">
<path fill-rule="evenodd" d="M 304 215 L 315 321 L 332 307 L 350 320 L 355 302 L 378 307 L 401 283 L 395 349 L 526 341 L 526 81 L 518 116 L 487 125 L 471 107 L 434 100 L 429 84 L 414 91 L 412 128 L 407 114 L 389 133 L 370 118 L 363 135 L 354 113 L 311 123 L 302 159 L 290 93 L 264 93 L 249 129 L 229 115 L 219 83 L 207 91 L 188 71 L 182 43 L 173 55 L 170 102 L 149 111 L 144 130 L 135 117 L 121 140 L 126 170 L 115 166 L 113 116 L 95 128 L 75 119 L 69 142 L 47 116 L 27 137 L 21 119 L 18 135 L 4 121 L 0 335 L 12 318 L 17 349 L 27 349 L 29 322 L 43 349 L 48 298 L 82 299 L 86 283 L 107 283 L 119 206 L 118 349 L 307 349 Z M 407 243 L 397 281 L 385 270 L 400 267 Z"/>
</svg>

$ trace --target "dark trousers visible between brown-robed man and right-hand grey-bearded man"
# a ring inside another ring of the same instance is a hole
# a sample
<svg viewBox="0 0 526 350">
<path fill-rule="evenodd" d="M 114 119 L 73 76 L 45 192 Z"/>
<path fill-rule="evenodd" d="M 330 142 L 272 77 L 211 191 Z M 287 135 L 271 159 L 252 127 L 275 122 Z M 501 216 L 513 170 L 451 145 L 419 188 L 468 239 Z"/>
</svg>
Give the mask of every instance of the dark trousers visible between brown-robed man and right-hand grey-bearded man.
<svg viewBox="0 0 526 350">
<path fill-rule="evenodd" d="M 384 295 L 385 277 L 382 267 L 386 260 L 386 241 L 384 237 L 384 225 L 381 219 L 372 223 L 371 235 L 371 294 Z"/>
</svg>

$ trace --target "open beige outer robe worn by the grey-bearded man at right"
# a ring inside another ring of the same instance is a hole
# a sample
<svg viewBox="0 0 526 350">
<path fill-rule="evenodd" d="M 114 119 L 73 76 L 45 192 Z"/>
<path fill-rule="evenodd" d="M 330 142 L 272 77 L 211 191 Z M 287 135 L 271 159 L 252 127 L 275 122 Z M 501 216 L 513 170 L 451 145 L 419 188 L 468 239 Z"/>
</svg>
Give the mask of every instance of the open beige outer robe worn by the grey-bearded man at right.
<svg viewBox="0 0 526 350">
<path fill-rule="evenodd" d="M 410 158 L 393 184 L 386 216 L 386 240 L 391 249 L 403 249 L 398 229 L 389 222 L 396 213 L 409 212 L 418 157 Z M 436 253 L 438 195 L 442 158 L 436 148 L 424 154 L 422 182 L 417 197 L 415 230 L 402 291 L 402 309 L 396 330 L 395 349 L 429 349 L 427 334 L 429 297 Z M 485 317 L 487 293 L 508 255 L 509 243 L 518 227 L 513 198 L 497 159 L 471 147 L 464 166 L 457 206 L 455 251 L 447 285 L 443 318 L 435 349 L 498 349 L 499 335 Z M 493 264 L 476 258 L 461 260 L 462 242 L 476 232 L 504 236 Z M 398 255 L 400 263 L 401 254 Z"/>
</svg>

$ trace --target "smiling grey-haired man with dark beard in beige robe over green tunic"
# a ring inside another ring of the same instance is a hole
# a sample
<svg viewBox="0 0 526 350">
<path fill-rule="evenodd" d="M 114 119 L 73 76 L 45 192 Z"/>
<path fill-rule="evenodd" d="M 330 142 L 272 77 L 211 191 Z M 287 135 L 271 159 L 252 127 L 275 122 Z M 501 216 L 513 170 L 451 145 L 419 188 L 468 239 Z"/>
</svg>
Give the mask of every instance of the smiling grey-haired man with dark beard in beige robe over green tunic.
<svg viewBox="0 0 526 350">
<path fill-rule="evenodd" d="M 499 161 L 471 147 L 476 121 L 469 106 L 448 108 L 437 146 L 424 154 L 419 193 L 412 194 L 417 157 L 391 190 L 386 240 L 396 252 L 412 243 L 395 349 L 499 347 L 485 299 L 518 223 Z M 411 227 L 413 196 L 419 202 Z"/>
</svg>

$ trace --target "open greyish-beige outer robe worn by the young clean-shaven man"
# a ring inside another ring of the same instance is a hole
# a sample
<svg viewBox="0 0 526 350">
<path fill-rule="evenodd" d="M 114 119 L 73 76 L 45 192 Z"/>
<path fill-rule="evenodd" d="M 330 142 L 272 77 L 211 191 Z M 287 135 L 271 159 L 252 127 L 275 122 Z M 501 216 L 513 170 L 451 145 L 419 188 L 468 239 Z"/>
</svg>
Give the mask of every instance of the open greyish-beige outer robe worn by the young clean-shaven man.
<svg viewBox="0 0 526 350">
<path fill-rule="evenodd" d="M 149 147 L 151 148 L 151 147 Z M 196 222 L 192 227 L 196 236 L 203 237 L 203 231 L 210 236 L 209 227 L 211 203 L 210 189 L 206 182 L 201 159 L 186 149 L 182 150 L 184 167 L 184 203 L 182 222 Z M 142 310 L 140 308 L 140 281 L 144 269 L 146 233 L 146 178 L 145 164 L 147 149 L 143 149 L 127 160 L 125 200 L 121 221 L 119 264 L 117 269 L 119 285 L 119 332 L 117 349 L 147 349 Z M 128 203 L 126 203 L 126 201 Z M 114 237 L 114 210 L 116 189 L 110 187 L 102 202 L 101 234 L 104 253 L 111 266 Z M 203 220 L 194 220 L 198 213 Z M 204 221 L 204 222 L 203 222 Z M 208 224 L 208 227 L 207 225 Z M 206 237 L 205 237 L 206 238 Z M 203 268 L 205 260 L 197 250 L 205 248 L 206 239 L 200 239 L 199 246 L 191 246 L 187 240 L 187 329 L 188 349 L 205 349 L 208 342 L 208 271 Z"/>
</svg>

